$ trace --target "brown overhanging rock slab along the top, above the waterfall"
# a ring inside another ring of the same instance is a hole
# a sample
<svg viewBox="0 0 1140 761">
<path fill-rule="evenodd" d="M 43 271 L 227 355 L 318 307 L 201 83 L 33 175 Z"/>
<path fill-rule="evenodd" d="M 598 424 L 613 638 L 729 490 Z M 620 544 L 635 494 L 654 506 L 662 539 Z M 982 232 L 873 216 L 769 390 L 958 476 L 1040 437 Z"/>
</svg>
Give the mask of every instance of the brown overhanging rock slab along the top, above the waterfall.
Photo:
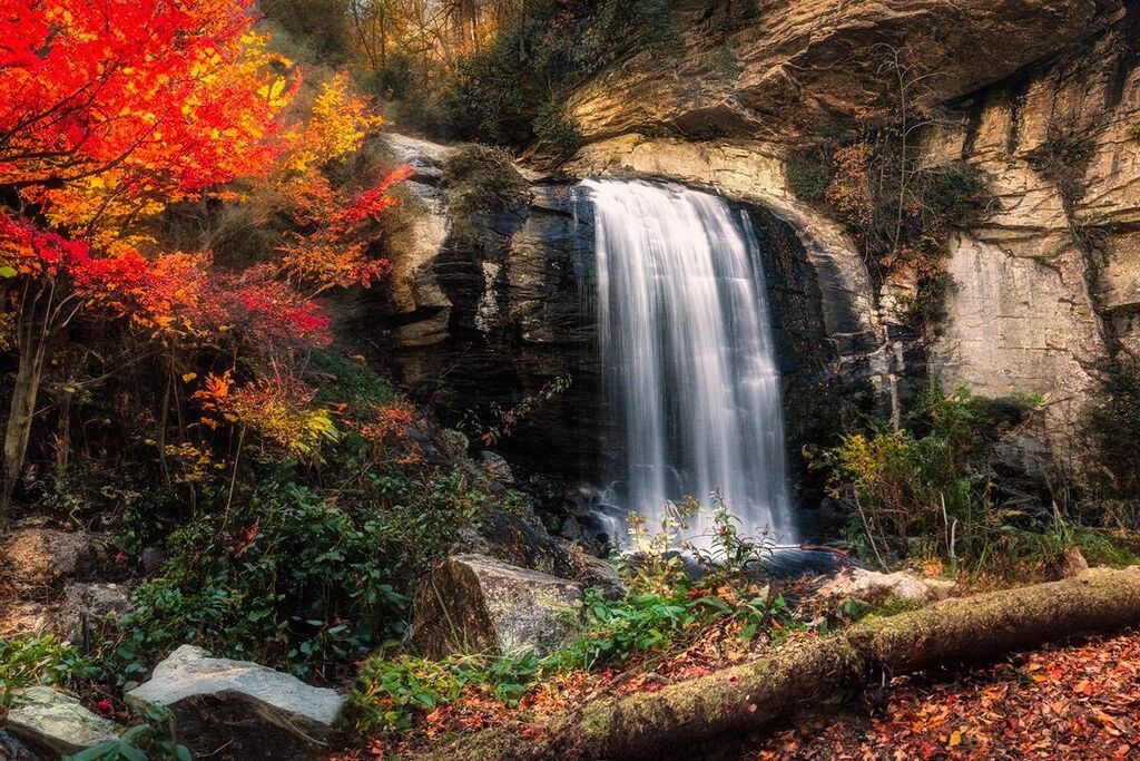
<svg viewBox="0 0 1140 761">
<path fill-rule="evenodd" d="M 588 141 L 626 135 L 798 138 L 883 105 L 906 47 L 945 102 L 1106 29 L 1124 0 L 687 0 L 681 51 L 649 50 L 575 92 Z"/>
</svg>

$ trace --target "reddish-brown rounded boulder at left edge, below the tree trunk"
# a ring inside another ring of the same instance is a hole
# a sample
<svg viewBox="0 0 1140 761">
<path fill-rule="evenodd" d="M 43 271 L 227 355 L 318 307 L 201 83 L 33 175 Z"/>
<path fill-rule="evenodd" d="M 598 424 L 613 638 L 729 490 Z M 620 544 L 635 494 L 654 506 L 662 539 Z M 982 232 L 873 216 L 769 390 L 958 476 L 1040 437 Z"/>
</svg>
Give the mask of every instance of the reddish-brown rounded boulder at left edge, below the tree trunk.
<svg viewBox="0 0 1140 761">
<path fill-rule="evenodd" d="M 84 576 L 107 559 L 100 534 L 22 528 L 3 544 L 7 577 L 16 584 L 51 586 L 65 578 Z"/>
</svg>

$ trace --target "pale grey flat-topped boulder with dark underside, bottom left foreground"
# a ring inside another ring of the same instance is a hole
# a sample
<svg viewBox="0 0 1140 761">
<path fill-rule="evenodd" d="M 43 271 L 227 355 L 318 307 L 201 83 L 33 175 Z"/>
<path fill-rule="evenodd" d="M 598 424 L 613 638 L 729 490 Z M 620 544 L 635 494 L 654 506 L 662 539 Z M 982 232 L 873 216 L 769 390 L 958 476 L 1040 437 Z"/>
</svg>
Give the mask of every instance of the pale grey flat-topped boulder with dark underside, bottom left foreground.
<svg viewBox="0 0 1140 761">
<path fill-rule="evenodd" d="M 344 706 L 335 690 L 190 645 L 155 666 L 127 702 L 169 707 L 196 756 L 243 761 L 312 758 Z"/>
</svg>

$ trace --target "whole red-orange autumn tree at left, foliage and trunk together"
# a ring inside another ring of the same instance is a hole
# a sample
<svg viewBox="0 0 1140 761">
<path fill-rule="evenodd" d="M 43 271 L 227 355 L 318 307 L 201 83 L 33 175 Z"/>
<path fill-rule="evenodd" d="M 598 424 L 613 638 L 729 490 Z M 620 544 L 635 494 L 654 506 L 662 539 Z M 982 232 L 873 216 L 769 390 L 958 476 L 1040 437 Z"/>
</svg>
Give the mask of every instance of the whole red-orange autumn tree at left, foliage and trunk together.
<svg viewBox="0 0 1140 761">
<path fill-rule="evenodd" d="M 0 16 L 0 264 L 19 353 L 0 524 L 47 347 L 97 282 L 81 238 L 131 257 L 141 219 L 262 173 L 280 151 L 287 72 L 250 10 L 251 0 L 14 0 Z"/>
</svg>

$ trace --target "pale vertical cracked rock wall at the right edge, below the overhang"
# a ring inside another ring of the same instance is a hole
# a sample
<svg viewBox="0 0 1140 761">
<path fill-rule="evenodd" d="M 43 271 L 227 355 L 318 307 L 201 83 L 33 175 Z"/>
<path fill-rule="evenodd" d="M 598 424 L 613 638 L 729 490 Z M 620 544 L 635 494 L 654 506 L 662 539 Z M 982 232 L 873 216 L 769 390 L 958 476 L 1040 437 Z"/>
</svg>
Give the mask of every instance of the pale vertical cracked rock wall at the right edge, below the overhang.
<svg viewBox="0 0 1140 761">
<path fill-rule="evenodd" d="M 929 164 L 964 160 L 1000 209 L 952 245 L 950 318 L 930 373 L 979 394 L 1041 394 L 1067 438 L 1097 362 L 1140 349 L 1140 9 L 1082 49 L 955 104 Z"/>
</svg>

